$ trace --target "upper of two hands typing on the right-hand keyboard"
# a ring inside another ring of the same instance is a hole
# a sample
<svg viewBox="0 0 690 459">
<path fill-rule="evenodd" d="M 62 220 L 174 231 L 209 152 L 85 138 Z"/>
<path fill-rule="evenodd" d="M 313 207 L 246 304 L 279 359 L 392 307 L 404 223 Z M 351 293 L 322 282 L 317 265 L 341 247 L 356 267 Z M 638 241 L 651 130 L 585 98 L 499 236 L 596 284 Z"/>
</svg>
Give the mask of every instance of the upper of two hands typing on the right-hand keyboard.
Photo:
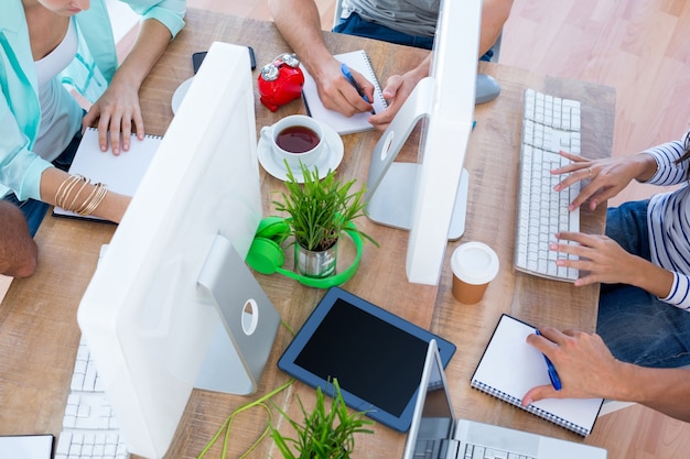
<svg viewBox="0 0 690 459">
<path fill-rule="evenodd" d="M 551 174 L 570 174 L 557 184 L 553 190 L 561 192 L 576 182 L 586 182 L 580 194 L 570 204 L 570 210 L 576 209 L 587 199 L 590 200 L 590 209 L 596 209 L 600 204 L 616 196 L 639 174 L 639 164 L 635 161 L 636 156 L 587 160 L 567 152 L 560 154 L 571 160 L 572 163 L 551 171 Z"/>
</svg>

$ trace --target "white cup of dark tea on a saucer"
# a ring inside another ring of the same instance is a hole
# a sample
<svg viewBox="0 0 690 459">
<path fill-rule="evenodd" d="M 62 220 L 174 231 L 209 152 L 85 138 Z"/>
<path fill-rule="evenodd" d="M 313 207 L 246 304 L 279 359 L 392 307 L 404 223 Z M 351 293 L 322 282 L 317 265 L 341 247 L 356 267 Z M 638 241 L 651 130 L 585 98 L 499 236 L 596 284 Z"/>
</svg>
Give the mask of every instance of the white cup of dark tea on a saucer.
<svg viewBox="0 0 690 459">
<path fill-rule="evenodd" d="M 287 162 L 292 172 L 300 171 L 300 164 L 312 166 L 325 149 L 322 125 L 305 114 L 290 114 L 261 128 L 261 139 L 268 142 L 280 166 Z"/>
</svg>

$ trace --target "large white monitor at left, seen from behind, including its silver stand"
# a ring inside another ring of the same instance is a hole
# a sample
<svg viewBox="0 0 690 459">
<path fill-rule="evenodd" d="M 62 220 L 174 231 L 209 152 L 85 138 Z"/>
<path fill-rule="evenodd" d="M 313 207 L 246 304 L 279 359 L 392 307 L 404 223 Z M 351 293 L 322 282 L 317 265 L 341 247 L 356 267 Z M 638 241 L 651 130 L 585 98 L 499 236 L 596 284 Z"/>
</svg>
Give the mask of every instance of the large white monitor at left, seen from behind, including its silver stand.
<svg viewBox="0 0 690 459">
<path fill-rule="evenodd" d="M 252 393 L 271 350 L 254 107 L 247 48 L 214 43 L 79 304 L 131 453 L 165 455 L 193 387 Z"/>
</svg>

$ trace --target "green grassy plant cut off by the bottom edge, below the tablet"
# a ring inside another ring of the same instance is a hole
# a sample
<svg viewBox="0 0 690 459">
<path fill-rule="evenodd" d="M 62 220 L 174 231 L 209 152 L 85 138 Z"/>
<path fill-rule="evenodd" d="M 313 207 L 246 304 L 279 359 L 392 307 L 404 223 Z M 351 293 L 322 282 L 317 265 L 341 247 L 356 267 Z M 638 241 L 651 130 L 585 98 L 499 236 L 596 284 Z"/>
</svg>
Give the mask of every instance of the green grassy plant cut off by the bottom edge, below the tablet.
<svg viewBox="0 0 690 459">
<path fill-rule="evenodd" d="M 276 406 L 297 433 L 294 438 L 285 437 L 271 427 L 271 438 L 284 459 L 349 459 L 355 447 L 355 434 L 374 434 L 367 428 L 374 422 L 365 418 L 366 412 L 348 412 L 337 380 L 333 380 L 333 389 L 330 409 L 321 387 L 316 389 L 316 402 L 311 413 L 298 396 L 302 424 Z"/>
</svg>

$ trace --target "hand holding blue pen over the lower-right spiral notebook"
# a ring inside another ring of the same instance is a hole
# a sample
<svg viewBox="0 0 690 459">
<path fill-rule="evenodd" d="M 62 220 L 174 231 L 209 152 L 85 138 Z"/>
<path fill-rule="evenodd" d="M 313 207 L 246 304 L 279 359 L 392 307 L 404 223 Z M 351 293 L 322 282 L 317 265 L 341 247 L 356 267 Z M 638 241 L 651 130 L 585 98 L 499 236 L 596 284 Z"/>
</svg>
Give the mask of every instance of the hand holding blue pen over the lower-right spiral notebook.
<svg viewBox="0 0 690 459">
<path fill-rule="evenodd" d="M 557 391 L 551 384 L 532 387 L 522 397 L 522 405 L 542 398 L 593 398 L 616 393 L 623 363 L 613 357 L 599 335 L 553 328 L 540 332 L 541 336 L 529 335 L 527 342 L 551 360 L 562 389 Z"/>
</svg>

